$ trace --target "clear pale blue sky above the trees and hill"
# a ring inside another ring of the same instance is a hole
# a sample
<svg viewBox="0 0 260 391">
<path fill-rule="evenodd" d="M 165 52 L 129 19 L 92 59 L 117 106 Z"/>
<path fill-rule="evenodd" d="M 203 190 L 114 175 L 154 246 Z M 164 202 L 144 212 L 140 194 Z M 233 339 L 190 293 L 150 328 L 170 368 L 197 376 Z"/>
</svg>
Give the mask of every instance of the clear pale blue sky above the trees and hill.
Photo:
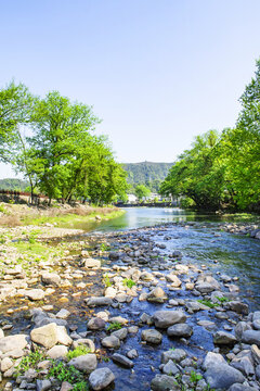
<svg viewBox="0 0 260 391">
<path fill-rule="evenodd" d="M 260 56 L 259 0 L 0 5 L 0 87 L 93 105 L 119 162 L 172 162 L 194 136 L 233 126 Z"/>
</svg>

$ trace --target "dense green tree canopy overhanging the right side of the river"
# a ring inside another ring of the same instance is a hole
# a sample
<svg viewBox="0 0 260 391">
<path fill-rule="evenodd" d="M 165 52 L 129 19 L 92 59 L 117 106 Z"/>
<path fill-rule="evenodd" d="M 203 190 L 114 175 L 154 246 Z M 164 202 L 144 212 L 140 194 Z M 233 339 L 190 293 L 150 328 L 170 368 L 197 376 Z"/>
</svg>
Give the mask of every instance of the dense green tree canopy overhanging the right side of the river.
<svg viewBox="0 0 260 391">
<path fill-rule="evenodd" d="M 236 126 L 197 136 L 174 162 L 160 193 L 191 199 L 200 210 L 259 207 L 260 60 L 239 101 Z"/>
</svg>

